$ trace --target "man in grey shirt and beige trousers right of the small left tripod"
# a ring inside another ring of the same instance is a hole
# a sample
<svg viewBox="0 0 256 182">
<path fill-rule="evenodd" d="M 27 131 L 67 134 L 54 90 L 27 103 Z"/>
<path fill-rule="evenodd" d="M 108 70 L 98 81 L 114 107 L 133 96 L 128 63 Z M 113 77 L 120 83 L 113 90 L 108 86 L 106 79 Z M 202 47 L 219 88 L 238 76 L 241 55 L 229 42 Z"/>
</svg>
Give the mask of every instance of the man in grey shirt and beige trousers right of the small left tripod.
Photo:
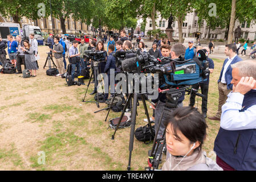
<svg viewBox="0 0 256 182">
<path fill-rule="evenodd" d="M 62 44 L 59 43 L 59 36 L 55 36 L 54 38 L 54 50 L 50 48 L 50 50 L 54 53 L 55 57 L 55 63 L 57 65 L 57 68 L 59 70 L 59 74 L 56 76 L 61 76 L 65 73 L 64 71 L 64 65 L 63 65 L 63 47 Z"/>
</svg>

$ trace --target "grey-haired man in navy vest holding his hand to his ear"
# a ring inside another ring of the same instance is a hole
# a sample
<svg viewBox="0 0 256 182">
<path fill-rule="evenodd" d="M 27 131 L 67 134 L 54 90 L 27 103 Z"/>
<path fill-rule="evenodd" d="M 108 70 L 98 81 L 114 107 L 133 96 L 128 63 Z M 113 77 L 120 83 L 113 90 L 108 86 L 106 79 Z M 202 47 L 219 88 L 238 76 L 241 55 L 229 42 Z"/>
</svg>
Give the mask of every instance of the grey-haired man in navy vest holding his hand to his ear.
<svg viewBox="0 0 256 182">
<path fill-rule="evenodd" d="M 256 170 L 256 62 L 231 65 L 233 92 L 222 106 L 221 127 L 214 142 L 217 164 L 224 171 Z"/>
</svg>

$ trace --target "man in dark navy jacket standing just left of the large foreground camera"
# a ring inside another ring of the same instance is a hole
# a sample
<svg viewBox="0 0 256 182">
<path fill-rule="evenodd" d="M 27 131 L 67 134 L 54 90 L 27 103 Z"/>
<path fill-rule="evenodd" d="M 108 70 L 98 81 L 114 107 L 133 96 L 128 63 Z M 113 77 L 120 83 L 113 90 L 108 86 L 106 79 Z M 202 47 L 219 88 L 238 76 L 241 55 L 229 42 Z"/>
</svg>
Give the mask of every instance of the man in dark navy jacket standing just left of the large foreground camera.
<svg viewBox="0 0 256 182">
<path fill-rule="evenodd" d="M 107 89 L 107 91 L 109 90 L 109 85 L 112 86 L 112 84 L 110 84 L 110 81 L 113 81 L 113 80 L 110 80 L 110 69 L 115 69 L 115 71 L 116 71 L 116 58 L 113 56 L 114 51 L 115 51 L 115 46 L 113 44 L 110 44 L 108 46 L 109 55 L 108 55 L 107 63 L 105 65 L 105 69 L 104 69 L 104 73 L 106 73 L 108 75 L 108 89 Z M 114 85 L 115 85 L 115 83 L 114 83 Z M 105 85 L 105 86 L 107 86 L 107 85 Z M 111 90 L 113 90 L 113 89 L 111 88 Z M 114 90 L 115 90 L 115 88 L 114 88 Z M 115 93 L 111 93 L 111 95 L 113 95 L 113 94 L 115 94 Z M 108 92 L 105 93 L 104 99 L 103 99 L 102 102 L 107 101 L 107 99 L 108 99 Z"/>
</svg>

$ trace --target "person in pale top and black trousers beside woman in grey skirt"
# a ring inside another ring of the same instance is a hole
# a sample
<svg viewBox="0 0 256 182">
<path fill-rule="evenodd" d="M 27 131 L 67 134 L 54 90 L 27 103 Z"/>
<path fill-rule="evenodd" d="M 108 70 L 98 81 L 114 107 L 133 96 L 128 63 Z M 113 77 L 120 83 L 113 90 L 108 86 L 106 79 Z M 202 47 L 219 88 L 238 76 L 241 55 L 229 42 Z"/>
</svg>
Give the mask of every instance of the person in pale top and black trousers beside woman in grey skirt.
<svg viewBox="0 0 256 182">
<path fill-rule="evenodd" d="M 22 47 L 24 47 L 24 42 L 21 38 L 21 35 L 17 35 L 16 40 L 18 42 L 18 51 L 17 51 L 18 54 L 17 54 L 17 73 L 15 73 L 15 74 L 20 74 L 20 73 L 22 73 L 21 64 L 23 64 L 24 69 L 26 69 L 25 54 L 22 50 Z"/>
</svg>

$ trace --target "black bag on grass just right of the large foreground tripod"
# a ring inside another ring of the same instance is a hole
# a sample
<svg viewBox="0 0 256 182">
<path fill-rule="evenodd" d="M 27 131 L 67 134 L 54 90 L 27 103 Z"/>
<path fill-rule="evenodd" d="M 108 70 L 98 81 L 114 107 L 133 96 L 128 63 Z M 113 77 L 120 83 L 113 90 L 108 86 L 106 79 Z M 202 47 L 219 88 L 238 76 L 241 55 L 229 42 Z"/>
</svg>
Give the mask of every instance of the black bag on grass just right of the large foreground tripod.
<svg viewBox="0 0 256 182">
<path fill-rule="evenodd" d="M 155 138 L 155 125 L 152 126 L 153 133 L 150 131 L 149 124 L 140 126 L 135 130 L 135 138 L 146 144 L 151 143 Z"/>
</svg>

